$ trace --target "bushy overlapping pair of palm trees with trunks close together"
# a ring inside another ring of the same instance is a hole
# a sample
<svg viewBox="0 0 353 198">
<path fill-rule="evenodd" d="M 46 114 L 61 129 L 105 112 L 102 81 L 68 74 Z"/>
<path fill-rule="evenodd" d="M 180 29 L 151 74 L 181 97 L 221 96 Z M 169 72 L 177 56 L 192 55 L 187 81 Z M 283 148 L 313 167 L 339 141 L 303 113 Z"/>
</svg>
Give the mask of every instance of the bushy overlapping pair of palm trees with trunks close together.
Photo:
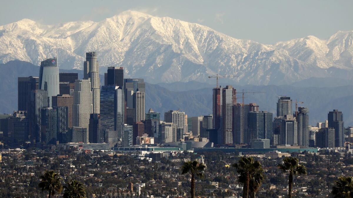
<svg viewBox="0 0 353 198">
<path fill-rule="evenodd" d="M 243 183 L 243 197 L 248 198 L 249 193 L 255 197 L 258 188 L 264 179 L 264 171 L 261 163 L 255 161 L 252 157 L 243 156 L 238 163 L 232 165 L 237 169 L 239 182 Z"/>
</svg>

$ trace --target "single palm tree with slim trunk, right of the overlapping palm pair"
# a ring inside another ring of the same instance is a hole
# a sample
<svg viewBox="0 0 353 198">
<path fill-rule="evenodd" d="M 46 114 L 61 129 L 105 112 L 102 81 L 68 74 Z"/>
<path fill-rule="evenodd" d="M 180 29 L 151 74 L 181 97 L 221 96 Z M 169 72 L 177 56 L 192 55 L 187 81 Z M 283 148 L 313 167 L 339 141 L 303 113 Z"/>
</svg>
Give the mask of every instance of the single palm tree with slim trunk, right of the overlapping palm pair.
<svg viewBox="0 0 353 198">
<path fill-rule="evenodd" d="M 292 185 L 293 185 L 293 175 L 306 174 L 306 168 L 303 165 L 298 164 L 298 159 L 296 157 L 285 157 L 282 164 L 278 164 L 283 172 L 289 171 L 288 179 L 288 197 L 292 198 Z"/>
</svg>

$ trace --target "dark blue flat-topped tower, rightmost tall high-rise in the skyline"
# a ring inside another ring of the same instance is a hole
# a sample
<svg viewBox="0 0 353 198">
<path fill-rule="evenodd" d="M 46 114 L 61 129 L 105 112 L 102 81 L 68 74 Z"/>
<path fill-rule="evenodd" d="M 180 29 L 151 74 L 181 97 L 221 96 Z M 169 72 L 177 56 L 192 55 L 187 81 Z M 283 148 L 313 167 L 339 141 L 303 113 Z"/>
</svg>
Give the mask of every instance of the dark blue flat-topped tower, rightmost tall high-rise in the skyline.
<svg viewBox="0 0 353 198">
<path fill-rule="evenodd" d="M 327 115 L 328 117 L 328 128 L 335 129 L 335 147 L 344 147 L 345 143 L 345 132 L 344 132 L 344 122 L 343 113 L 334 109 L 330 111 Z"/>
</svg>

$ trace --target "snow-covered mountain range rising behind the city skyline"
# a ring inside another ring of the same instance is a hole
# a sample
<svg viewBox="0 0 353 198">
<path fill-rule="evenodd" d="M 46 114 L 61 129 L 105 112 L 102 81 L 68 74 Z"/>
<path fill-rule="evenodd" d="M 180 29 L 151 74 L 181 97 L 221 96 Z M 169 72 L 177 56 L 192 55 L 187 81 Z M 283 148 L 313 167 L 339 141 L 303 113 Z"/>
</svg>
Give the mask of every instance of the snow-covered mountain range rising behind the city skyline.
<svg viewBox="0 0 353 198">
<path fill-rule="evenodd" d="M 169 17 L 125 11 L 100 22 L 43 25 L 29 19 L 0 26 L 0 62 L 39 65 L 56 56 L 59 67 L 82 69 L 85 52 L 99 51 L 101 67 L 122 66 L 150 82 L 206 81 L 219 73 L 235 82 L 267 85 L 311 77 L 353 79 L 353 31 L 264 45 Z M 101 68 L 101 71 L 105 69 Z"/>
</svg>

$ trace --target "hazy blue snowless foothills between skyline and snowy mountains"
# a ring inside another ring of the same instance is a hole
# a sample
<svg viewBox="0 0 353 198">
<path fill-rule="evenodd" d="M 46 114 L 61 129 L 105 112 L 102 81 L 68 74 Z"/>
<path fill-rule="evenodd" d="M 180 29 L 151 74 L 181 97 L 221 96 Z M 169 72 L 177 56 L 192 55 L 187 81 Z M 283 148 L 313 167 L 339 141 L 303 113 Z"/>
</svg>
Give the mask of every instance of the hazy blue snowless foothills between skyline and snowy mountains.
<svg viewBox="0 0 353 198">
<path fill-rule="evenodd" d="M 39 66 L 24 61 L 10 61 L 0 64 L 0 112 L 12 113 L 17 110 L 17 77 L 38 76 Z M 82 70 L 65 70 L 60 72 L 78 73 L 78 78 L 82 79 Z M 100 75 L 101 85 L 104 76 Z M 265 93 L 245 94 L 245 103 L 257 103 L 260 111 L 270 111 L 276 115 L 277 96 L 287 95 L 293 101 L 303 101 L 303 106 L 309 108 L 310 124 L 323 122 L 327 119 L 327 114 L 333 109 L 343 112 L 345 126 L 353 125 L 353 86 L 346 81 L 337 82 L 339 86 L 332 86 L 333 83 L 324 84 L 323 82 L 334 81 L 332 79 L 308 79 L 305 82 L 293 85 L 237 85 L 233 86 L 238 92 L 242 89 L 252 89 Z M 214 85 L 201 82 L 174 82 L 150 84 L 146 82 L 146 111 L 152 108 L 161 113 L 163 119 L 164 112 L 168 110 L 185 111 L 189 116 L 208 115 L 212 113 L 212 88 Z M 215 79 L 209 82 L 215 83 Z M 222 85 L 225 85 L 221 83 Z M 300 85 L 300 86 L 298 86 Z M 329 86 L 331 85 L 331 86 Z M 323 87 L 324 86 L 324 87 Z M 325 87 L 326 86 L 326 87 Z M 238 102 L 241 103 L 241 95 L 238 94 Z M 295 104 L 293 104 L 294 109 Z"/>
</svg>

